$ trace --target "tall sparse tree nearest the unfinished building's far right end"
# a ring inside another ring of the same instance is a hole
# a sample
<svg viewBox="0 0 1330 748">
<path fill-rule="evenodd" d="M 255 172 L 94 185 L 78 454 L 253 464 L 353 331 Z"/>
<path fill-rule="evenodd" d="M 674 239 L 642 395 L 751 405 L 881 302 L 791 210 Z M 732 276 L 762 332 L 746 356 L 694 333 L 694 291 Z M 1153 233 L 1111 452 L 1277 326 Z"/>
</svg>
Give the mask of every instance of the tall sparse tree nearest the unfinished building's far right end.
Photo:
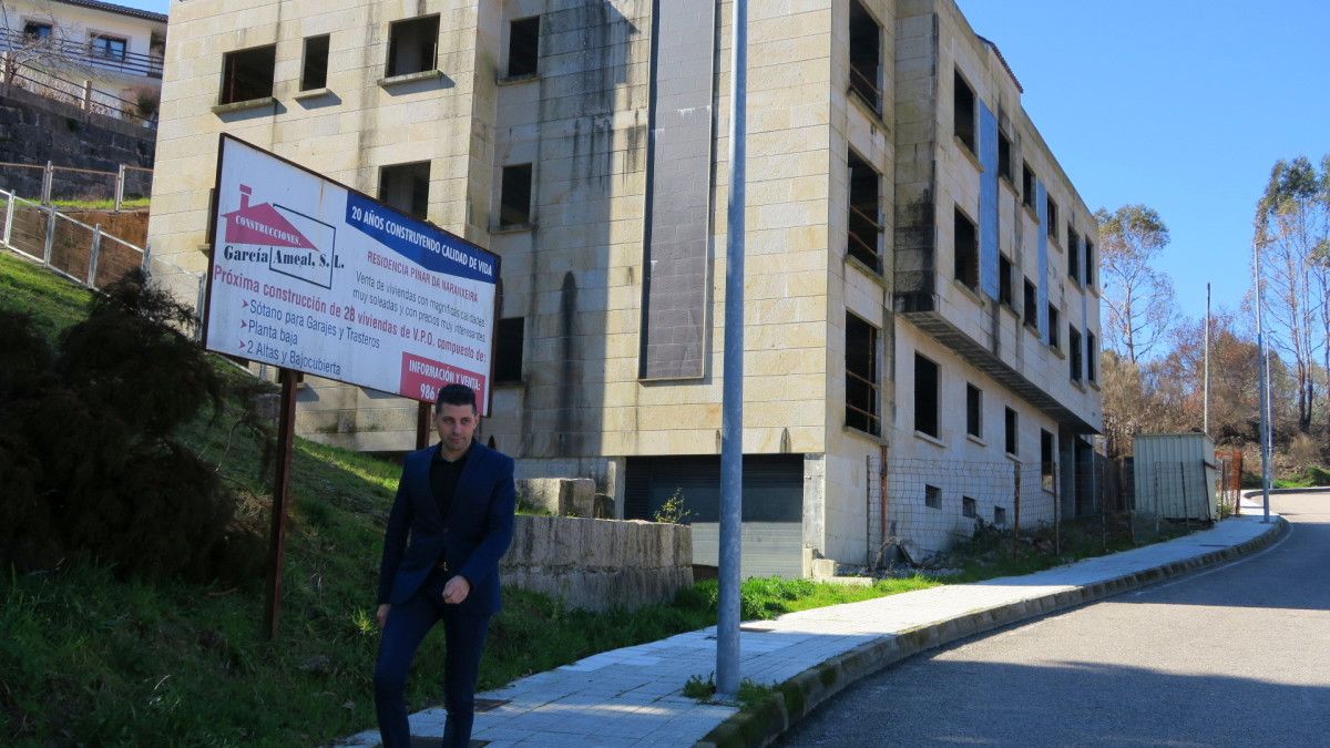
<svg viewBox="0 0 1330 748">
<path fill-rule="evenodd" d="M 1108 303 L 1108 343 L 1136 363 L 1177 318 L 1173 282 L 1152 265 L 1168 246 L 1168 226 L 1145 205 L 1124 205 L 1113 213 L 1100 208 L 1095 218 Z"/>
</svg>

